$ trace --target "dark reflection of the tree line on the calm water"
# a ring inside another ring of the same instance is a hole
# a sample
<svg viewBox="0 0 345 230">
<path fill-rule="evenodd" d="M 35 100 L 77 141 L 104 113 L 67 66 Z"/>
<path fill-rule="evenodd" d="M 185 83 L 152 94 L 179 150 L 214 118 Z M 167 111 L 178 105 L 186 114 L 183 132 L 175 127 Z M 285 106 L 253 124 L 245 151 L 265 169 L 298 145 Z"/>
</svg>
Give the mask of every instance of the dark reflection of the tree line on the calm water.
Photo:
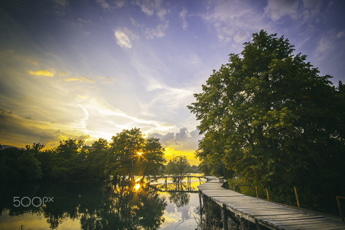
<svg viewBox="0 0 345 230">
<path fill-rule="evenodd" d="M 80 220 L 84 230 L 158 229 L 164 222 L 163 213 L 167 206 L 165 198 L 151 187 L 118 187 L 111 183 L 22 184 L 2 189 L 1 192 L 1 213 L 7 212 L 12 217 L 29 213 L 43 216 L 50 229 L 59 228 L 66 219 Z M 53 197 L 53 202 L 40 207 L 14 207 L 14 196 L 19 199 L 49 196 Z M 7 219 L 0 218 L 1 229 L 17 229 L 21 224 L 27 230 L 37 229 L 24 218 L 19 219 L 14 228 L 11 227 L 13 219 L 9 224 Z"/>
</svg>

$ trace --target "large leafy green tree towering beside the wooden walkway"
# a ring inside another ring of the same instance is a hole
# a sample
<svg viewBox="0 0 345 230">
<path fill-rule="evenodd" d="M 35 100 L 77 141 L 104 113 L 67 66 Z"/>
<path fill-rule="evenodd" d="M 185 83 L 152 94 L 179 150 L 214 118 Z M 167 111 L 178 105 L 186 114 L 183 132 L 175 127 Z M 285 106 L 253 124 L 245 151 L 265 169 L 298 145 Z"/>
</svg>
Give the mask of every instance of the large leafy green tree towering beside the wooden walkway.
<svg viewBox="0 0 345 230">
<path fill-rule="evenodd" d="M 344 87 L 319 76 L 293 47 L 283 36 L 254 33 L 188 108 L 204 134 L 201 165 L 224 161 L 281 202 L 296 186 L 305 202 L 320 204 L 345 189 Z"/>
</svg>

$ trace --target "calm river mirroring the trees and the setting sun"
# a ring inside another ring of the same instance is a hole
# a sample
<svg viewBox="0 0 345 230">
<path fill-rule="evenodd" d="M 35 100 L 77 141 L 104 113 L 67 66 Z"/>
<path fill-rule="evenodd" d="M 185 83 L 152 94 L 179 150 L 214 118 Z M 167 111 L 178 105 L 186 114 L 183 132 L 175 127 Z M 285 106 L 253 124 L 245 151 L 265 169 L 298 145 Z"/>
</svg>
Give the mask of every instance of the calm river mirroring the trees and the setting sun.
<svg viewBox="0 0 345 230">
<path fill-rule="evenodd" d="M 201 174 L 194 174 L 202 176 Z M 151 186 L 39 181 L 0 189 L 1 230 L 196 229 L 198 178 Z M 174 190 L 174 191 L 171 191 Z"/>
</svg>

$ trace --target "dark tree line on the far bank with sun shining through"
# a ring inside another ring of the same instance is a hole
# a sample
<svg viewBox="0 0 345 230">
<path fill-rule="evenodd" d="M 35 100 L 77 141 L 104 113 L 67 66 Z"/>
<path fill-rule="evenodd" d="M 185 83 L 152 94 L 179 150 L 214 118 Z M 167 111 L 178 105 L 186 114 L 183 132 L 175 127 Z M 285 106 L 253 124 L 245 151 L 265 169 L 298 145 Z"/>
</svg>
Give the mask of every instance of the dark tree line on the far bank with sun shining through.
<svg viewBox="0 0 345 230">
<path fill-rule="evenodd" d="M 159 174 L 166 163 L 159 139 L 142 136 L 138 128 L 133 128 L 117 133 L 110 144 L 99 138 L 90 146 L 83 140 L 62 140 L 56 148 L 44 150 L 39 143 L 27 145 L 26 149 L 2 149 L 0 145 L 0 181 L 134 181 L 134 175 L 142 181 Z"/>
</svg>

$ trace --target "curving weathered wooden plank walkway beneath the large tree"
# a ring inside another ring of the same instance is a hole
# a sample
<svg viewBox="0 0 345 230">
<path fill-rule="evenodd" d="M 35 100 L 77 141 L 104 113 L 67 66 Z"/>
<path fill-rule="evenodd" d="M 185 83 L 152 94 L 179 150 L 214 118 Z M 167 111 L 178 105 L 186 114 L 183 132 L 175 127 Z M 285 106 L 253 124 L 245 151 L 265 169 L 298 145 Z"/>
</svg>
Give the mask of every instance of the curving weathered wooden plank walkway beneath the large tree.
<svg viewBox="0 0 345 230">
<path fill-rule="evenodd" d="M 223 223 L 226 223 L 226 218 L 223 217 L 223 214 L 226 213 L 224 210 L 227 209 L 255 223 L 257 229 L 265 226 L 269 229 L 282 230 L 345 230 L 345 222 L 245 196 L 233 190 L 222 188 L 222 185 L 222 182 L 214 179 L 200 184 L 197 188 L 199 189 L 199 195 L 203 196 L 204 206 L 206 204 L 206 208 L 207 199 L 211 199 L 220 205 L 222 208 Z M 205 220 L 207 222 L 206 216 Z M 224 226 L 224 229 L 228 229 L 227 226 Z"/>
</svg>

